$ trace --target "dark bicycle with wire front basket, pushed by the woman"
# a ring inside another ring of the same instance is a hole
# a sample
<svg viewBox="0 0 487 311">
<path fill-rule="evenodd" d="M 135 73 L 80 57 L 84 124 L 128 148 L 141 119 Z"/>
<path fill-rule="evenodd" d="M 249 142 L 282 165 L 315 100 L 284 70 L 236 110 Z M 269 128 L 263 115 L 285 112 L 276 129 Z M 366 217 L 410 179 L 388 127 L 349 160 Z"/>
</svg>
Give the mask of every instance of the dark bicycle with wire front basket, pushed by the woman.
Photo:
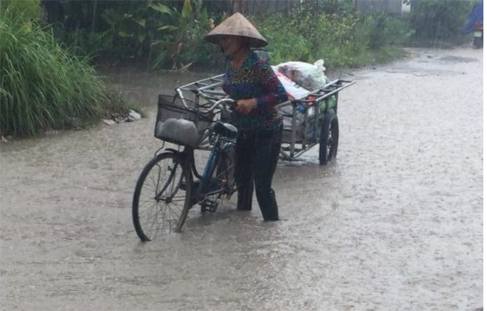
<svg viewBox="0 0 487 311">
<path fill-rule="evenodd" d="M 207 104 L 191 108 L 184 99 L 175 96 L 170 102 L 159 95 L 154 136 L 164 143 L 138 177 L 132 202 L 134 228 L 142 241 L 181 232 L 193 205 L 199 204 L 201 212 L 216 212 L 221 197 L 230 198 L 237 190 L 233 176 L 237 128 L 225 122 L 235 103 L 203 97 Z M 166 142 L 179 147 L 164 149 Z M 210 152 L 200 174 L 194 152 L 202 145 L 208 145 Z"/>
</svg>

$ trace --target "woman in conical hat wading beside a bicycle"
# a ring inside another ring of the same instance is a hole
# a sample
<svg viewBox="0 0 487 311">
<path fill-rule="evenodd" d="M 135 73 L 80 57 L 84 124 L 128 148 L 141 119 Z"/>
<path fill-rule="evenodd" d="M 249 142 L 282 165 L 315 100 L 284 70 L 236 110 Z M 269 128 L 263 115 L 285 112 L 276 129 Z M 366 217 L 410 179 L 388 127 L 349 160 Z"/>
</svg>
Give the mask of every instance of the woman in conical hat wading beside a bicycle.
<svg viewBox="0 0 487 311">
<path fill-rule="evenodd" d="M 225 19 L 205 35 L 205 40 L 220 45 L 230 60 L 223 90 L 237 102 L 233 113 L 239 129 L 235 152 L 237 209 L 252 209 L 255 185 L 264 221 L 278 221 L 278 204 L 271 186 L 282 135 L 282 117 L 276 105 L 285 102 L 287 94 L 271 65 L 251 49 L 264 47 L 267 41 L 240 13 Z"/>
</svg>

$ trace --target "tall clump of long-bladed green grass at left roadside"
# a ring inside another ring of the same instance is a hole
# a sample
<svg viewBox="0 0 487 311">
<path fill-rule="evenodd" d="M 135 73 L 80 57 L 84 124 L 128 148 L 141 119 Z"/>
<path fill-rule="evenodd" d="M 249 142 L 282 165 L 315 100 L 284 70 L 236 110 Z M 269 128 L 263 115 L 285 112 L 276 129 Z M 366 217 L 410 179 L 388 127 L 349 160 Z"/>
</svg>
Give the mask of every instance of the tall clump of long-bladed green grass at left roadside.
<svg viewBox="0 0 487 311">
<path fill-rule="evenodd" d="M 0 41 L 1 135 L 32 136 L 101 118 L 109 102 L 101 77 L 50 31 L 6 10 Z"/>
</svg>

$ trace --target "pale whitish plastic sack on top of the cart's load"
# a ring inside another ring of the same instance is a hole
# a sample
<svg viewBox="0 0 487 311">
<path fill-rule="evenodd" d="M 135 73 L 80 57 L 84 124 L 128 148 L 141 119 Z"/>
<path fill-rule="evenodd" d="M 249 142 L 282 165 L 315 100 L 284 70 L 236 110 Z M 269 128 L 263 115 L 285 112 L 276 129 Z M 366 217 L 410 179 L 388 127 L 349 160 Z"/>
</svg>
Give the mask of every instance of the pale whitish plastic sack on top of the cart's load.
<svg viewBox="0 0 487 311">
<path fill-rule="evenodd" d="M 326 84 L 326 68 L 322 59 L 314 64 L 288 61 L 276 65 L 275 70 L 308 90 L 317 90 Z"/>
</svg>

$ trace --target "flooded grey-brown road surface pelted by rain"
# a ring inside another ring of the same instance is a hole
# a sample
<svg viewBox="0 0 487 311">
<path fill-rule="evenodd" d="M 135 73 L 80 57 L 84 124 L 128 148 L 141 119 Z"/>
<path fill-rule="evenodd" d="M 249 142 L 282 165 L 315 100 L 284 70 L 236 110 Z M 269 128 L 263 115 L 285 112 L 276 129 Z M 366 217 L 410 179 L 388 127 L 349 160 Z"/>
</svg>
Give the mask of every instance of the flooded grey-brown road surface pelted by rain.
<svg viewBox="0 0 487 311">
<path fill-rule="evenodd" d="M 282 221 L 230 201 L 146 244 L 131 196 L 156 95 L 188 77 L 114 74 L 148 118 L 1 144 L 1 310 L 481 308 L 482 67 L 470 47 L 414 49 L 338 74 L 357 83 L 337 161 L 280 161 Z"/>
</svg>

